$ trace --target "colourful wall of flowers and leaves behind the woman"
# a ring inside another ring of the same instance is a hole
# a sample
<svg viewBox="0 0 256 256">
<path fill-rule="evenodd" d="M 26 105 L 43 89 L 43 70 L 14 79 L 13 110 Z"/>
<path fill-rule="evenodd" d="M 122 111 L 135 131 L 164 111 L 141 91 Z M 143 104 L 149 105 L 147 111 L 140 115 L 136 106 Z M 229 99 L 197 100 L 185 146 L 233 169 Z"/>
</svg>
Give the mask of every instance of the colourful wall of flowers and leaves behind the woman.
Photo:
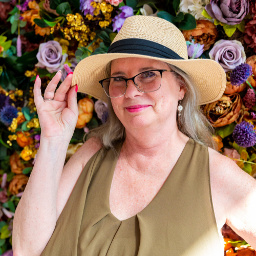
<svg viewBox="0 0 256 256">
<path fill-rule="evenodd" d="M 221 3 L 222 2 L 222 3 Z M 15 208 L 40 145 L 33 99 L 58 70 L 106 53 L 126 17 L 157 16 L 183 33 L 189 58 L 218 61 L 226 72 L 223 96 L 201 109 L 216 128 L 221 154 L 256 178 L 256 1 L 254 0 L 0 0 L 0 254 L 11 256 Z M 79 117 L 66 162 L 84 136 L 108 119 L 108 105 L 78 93 Z M 256 251 L 229 226 L 225 255 Z"/>
</svg>

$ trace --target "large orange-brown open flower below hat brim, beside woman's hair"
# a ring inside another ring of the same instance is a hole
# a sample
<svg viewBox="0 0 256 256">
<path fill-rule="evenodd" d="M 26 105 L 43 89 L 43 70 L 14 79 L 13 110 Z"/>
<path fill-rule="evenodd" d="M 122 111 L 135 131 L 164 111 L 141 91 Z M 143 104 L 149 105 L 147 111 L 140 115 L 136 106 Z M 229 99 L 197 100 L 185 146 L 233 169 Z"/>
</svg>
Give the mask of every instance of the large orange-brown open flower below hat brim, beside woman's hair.
<svg viewBox="0 0 256 256">
<path fill-rule="evenodd" d="M 236 121 L 241 106 L 241 96 L 234 93 L 222 95 L 219 100 L 204 105 L 203 111 L 212 126 L 221 127 Z"/>
</svg>

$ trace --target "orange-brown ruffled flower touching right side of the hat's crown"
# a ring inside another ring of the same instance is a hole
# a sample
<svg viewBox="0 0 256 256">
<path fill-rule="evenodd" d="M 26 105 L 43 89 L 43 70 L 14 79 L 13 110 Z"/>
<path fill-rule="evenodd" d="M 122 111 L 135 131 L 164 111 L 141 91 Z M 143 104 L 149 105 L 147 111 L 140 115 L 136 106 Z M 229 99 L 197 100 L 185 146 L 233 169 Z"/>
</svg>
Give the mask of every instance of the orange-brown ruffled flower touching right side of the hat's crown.
<svg viewBox="0 0 256 256">
<path fill-rule="evenodd" d="M 197 27 L 191 30 L 183 30 L 186 41 L 195 39 L 195 43 L 199 42 L 204 45 L 204 51 L 208 50 L 215 43 L 217 38 L 216 26 L 209 20 L 197 20 Z"/>
</svg>

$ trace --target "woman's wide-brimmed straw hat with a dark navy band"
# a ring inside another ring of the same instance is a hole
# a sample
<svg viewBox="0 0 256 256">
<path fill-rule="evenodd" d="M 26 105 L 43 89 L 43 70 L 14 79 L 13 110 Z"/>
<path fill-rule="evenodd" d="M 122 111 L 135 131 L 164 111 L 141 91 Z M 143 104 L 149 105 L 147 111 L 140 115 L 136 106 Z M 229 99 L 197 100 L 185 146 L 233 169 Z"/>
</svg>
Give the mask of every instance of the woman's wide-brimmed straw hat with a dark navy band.
<svg viewBox="0 0 256 256">
<path fill-rule="evenodd" d="M 135 15 L 125 19 L 108 53 L 92 55 L 76 66 L 72 86 L 78 92 L 107 102 L 99 80 L 108 78 L 106 65 L 113 59 L 139 57 L 161 60 L 186 72 L 200 94 L 200 105 L 218 100 L 226 88 L 226 74 L 211 59 L 188 59 L 186 41 L 172 23 L 155 16 Z"/>
</svg>

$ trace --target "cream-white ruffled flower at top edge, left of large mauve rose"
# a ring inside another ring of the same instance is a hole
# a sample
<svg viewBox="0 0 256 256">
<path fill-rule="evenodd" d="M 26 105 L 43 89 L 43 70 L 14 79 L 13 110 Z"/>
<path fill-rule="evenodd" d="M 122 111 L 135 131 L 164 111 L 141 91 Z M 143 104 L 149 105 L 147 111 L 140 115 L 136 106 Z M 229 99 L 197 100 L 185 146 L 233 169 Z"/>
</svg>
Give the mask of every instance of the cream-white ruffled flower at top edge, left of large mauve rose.
<svg viewBox="0 0 256 256">
<path fill-rule="evenodd" d="M 210 0 L 181 0 L 180 11 L 190 13 L 196 19 L 206 19 L 202 15 L 205 6 L 210 3 Z"/>
</svg>

